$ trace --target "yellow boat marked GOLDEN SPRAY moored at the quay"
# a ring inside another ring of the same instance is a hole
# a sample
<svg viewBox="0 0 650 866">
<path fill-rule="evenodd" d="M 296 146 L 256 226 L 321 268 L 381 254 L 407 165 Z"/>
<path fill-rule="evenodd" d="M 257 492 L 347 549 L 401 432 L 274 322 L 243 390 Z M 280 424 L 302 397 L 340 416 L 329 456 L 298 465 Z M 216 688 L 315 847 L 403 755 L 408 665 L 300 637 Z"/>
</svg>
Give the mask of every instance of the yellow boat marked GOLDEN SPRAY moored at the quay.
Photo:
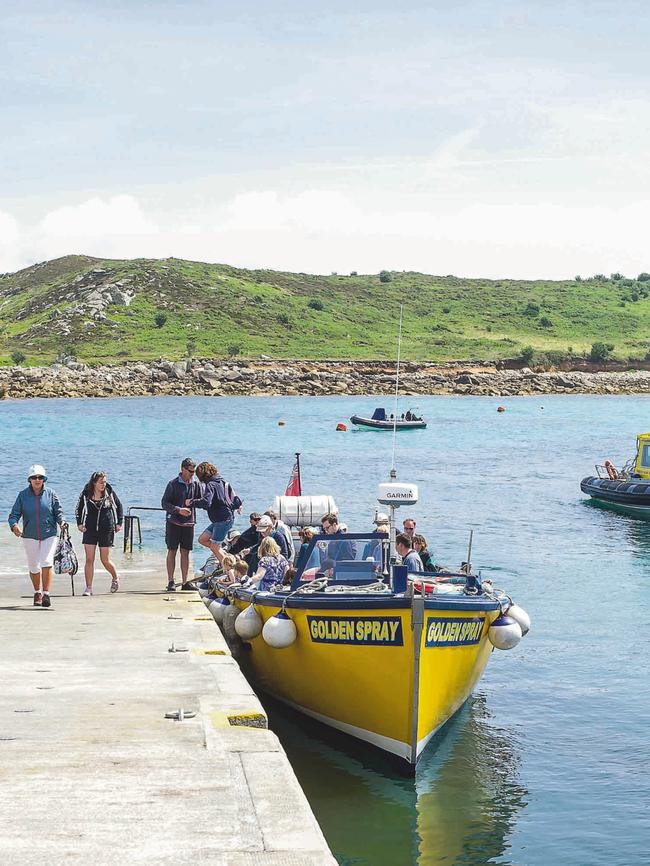
<svg viewBox="0 0 650 866">
<path fill-rule="evenodd" d="M 327 546 L 342 543 L 347 558 L 328 558 Z M 385 535 L 318 535 L 311 544 L 325 550 L 323 570 L 299 570 L 290 588 L 236 586 L 204 601 L 226 636 L 246 645 L 256 686 L 415 768 L 492 649 L 514 646 L 528 617 L 476 575 L 407 583 L 404 566 L 386 565 Z M 372 546 L 381 550 L 374 558 Z"/>
</svg>

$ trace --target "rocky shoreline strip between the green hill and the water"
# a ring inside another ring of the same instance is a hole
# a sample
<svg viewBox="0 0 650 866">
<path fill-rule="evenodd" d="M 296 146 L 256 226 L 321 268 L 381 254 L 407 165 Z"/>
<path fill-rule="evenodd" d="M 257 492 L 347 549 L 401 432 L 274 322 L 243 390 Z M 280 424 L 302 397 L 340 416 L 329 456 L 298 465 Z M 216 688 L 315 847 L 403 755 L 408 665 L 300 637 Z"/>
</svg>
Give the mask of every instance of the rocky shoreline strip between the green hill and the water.
<svg viewBox="0 0 650 866">
<path fill-rule="evenodd" d="M 0 367 L 0 398 L 389 395 L 394 387 L 394 361 L 194 359 Z M 560 372 L 502 369 L 498 364 L 408 362 L 401 366 L 400 394 L 650 394 L 650 371 Z"/>
</svg>

